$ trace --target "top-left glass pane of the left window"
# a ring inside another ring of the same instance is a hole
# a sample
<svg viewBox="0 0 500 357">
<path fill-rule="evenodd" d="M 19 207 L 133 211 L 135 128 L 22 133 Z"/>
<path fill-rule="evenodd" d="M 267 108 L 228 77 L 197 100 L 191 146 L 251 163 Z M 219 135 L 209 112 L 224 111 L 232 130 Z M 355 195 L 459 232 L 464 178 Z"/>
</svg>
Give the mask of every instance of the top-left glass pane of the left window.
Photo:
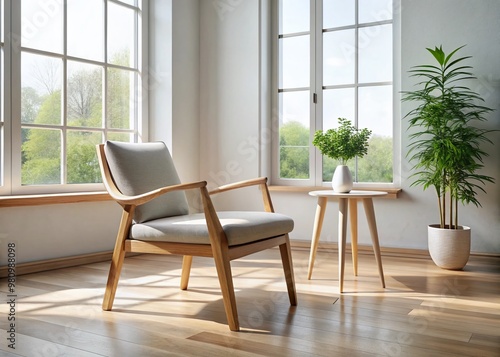
<svg viewBox="0 0 500 357">
<path fill-rule="evenodd" d="M 63 1 L 21 1 L 21 45 L 63 51 Z"/>
</svg>

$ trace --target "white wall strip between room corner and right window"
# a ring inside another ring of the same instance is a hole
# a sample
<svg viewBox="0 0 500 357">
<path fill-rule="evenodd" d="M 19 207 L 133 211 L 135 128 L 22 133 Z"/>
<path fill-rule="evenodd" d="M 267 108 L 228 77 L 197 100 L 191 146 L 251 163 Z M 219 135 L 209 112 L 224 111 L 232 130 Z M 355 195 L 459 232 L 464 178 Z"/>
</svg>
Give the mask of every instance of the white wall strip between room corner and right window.
<svg viewBox="0 0 500 357">
<path fill-rule="evenodd" d="M 261 78 L 260 1 L 200 5 L 200 170 L 215 187 L 262 174 L 259 135 L 270 108 Z M 231 195 L 231 202 L 247 203 L 246 195 Z M 215 201 L 219 208 L 234 207 Z M 255 200 L 250 204 L 261 207 Z"/>
</svg>

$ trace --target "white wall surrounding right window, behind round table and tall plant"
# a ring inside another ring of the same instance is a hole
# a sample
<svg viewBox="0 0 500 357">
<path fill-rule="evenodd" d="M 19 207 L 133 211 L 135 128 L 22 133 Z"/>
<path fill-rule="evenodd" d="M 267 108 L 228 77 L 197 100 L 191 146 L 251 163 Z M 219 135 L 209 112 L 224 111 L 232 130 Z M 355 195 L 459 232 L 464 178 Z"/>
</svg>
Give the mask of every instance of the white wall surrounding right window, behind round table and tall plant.
<svg viewBox="0 0 500 357">
<path fill-rule="evenodd" d="M 267 0 L 242 0 L 217 11 L 217 2 L 201 2 L 201 125 L 206 137 L 201 140 L 201 175 L 224 183 L 266 173 L 263 158 L 249 160 L 241 150 L 250 140 L 259 138 L 263 110 L 260 97 L 268 91 L 258 81 L 264 69 L 259 61 L 260 27 L 266 24 L 262 9 Z M 487 99 L 487 105 L 497 109 L 489 116 L 486 127 L 500 129 L 500 2 L 497 0 L 402 0 L 401 8 L 401 86 L 410 89 L 406 71 L 413 65 L 430 61 L 426 47 L 443 45 L 450 51 L 467 44 L 462 54 L 473 55 L 470 62 L 479 80 L 473 87 Z M 222 16 L 221 16 L 222 15 Z M 402 111 L 407 110 L 403 107 Z M 263 114 L 264 113 L 264 114 Z M 396 113 L 396 118 L 401 118 Z M 269 116 L 266 118 L 269 121 Z M 436 199 L 432 191 L 410 187 L 411 165 L 404 159 L 407 145 L 406 123 L 402 123 L 401 182 L 403 193 L 397 200 L 375 202 L 381 245 L 427 249 L 427 225 L 437 221 Z M 499 134 L 491 136 L 496 146 L 487 150 L 485 173 L 500 183 Z M 264 142 L 265 143 L 265 142 Z M 243 146 L 242 146 L 243 145 Z M 262 152 L 260 152 L 262 154 Z M 237 170 L 228 170 L 228 167 Z M 462 224 L 472 227 L 472 250 L 500 253 L 500 190 L 498 184 L 488 184 L 488 194 L 480 194 L 482 208 L 461 208 Z M 223 199 L 224 208 L 235 207 L 253 193 L 237 200 Z M 275 209 L 295 220 L 292 239 L 310 240 L 315 199 L 306 193 L 273 193 Z M 330 203 L 323 227 L 322 241 L 336 241 L 336 204 Z M 359 210 L 360 244 L 369 244 L 363 210 Z"/>
</svg>

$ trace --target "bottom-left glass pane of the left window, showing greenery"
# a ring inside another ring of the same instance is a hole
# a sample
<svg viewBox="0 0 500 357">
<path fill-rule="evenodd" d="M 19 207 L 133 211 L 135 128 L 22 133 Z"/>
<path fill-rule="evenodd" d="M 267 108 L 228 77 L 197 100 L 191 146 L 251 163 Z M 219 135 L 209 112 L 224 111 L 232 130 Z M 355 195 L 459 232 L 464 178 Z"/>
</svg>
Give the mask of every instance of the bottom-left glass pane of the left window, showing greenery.
<svg viewBox="0 0 500 357">
<path fill-rule="evenodd" d="M 22 128 L 22 185 L 61 183 L 61 131 Z"/>
</svg>

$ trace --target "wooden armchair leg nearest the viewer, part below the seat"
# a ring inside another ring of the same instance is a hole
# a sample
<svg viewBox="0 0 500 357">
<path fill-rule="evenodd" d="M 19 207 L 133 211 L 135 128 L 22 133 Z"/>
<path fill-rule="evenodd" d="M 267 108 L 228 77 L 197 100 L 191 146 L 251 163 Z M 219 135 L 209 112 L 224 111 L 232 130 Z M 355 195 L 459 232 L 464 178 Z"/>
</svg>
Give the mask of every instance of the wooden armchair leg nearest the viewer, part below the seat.
<svg viewBox="0 0 500 357">
<path fill-rule="evenodd" d="M 240 324 L 236 308 L 236 296 L 234 295 L 233 275 L 231 274 L 231 264 L 227 254 L 227 249 L 225 252 L 219 250 L 217 253 L 214 252 L 214 261 L 217 269 L 217 275 L 219 277 L 227 323 L 231 331 L 239 331 Z"/>
</svg>

